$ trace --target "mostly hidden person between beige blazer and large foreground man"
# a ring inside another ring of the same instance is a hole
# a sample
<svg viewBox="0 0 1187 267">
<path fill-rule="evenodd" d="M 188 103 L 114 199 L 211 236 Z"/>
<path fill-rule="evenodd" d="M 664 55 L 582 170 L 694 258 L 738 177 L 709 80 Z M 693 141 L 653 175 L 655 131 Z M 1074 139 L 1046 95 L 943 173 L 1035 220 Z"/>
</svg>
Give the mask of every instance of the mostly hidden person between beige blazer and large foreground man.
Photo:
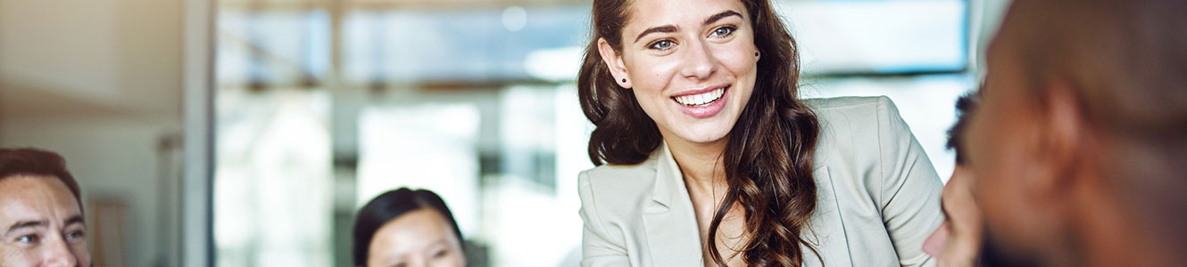
<svg viewBox="0 0 1187 267">
<path fill-rule="evenodd" d="M 975 266 L 980 248 L 980 210 L 972 196 L 972 171 L 967 164 L 966 149 L 961 145 L 975 99 L 973 95 L 957 99 L 957 123 L 948 130 L 947 144 L 957 154 L 957 164 L 948 183 L 944 185 L 940 200 L 945 219 L 923 242 L 923 252 L 935 256 L 939 267 Z"/>
</svg>

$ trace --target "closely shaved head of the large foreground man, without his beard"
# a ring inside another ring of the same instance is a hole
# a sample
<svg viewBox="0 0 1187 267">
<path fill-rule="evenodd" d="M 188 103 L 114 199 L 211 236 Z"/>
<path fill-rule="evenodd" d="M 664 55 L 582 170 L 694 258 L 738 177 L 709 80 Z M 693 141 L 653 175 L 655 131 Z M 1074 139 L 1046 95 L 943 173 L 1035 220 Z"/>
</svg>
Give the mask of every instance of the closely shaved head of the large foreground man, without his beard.
<svg viewBox="0 0 1187 267">
<path fill-rule="evenodd" d="M 1030 177 L 1098 177 L 1105 195 L 1096 197 L 1116 198 L 1132 215 L 1124 216 L 1131 228 L 1166 241 L 1162 247 L 1187 248 L 1187 228 L 1180 227 L 1187 221 L 1183 14 L 1182 0 L 1014 0 L 990 47 L 988 80 L 996 100 L 986 109 L 1013 113 L 983 117 L 1020 122 L 1011 142 L 1023 144 L 1011 146 L 1015 151 L 984 148 L 990 154 L 982 159 L 1004 158 L 998 162 L 1010 164 L 998 167 L 1029 168 L 1015 174 Z M 982 135 L 988 132 L 1002 131 Z M 1036 156 L 1005 161 L 1024 154 L 1018 151 Z M 1066 161 L 1050 159 L 1056 157 Z M 1034 168 L 1040 163 L 1050 168 Z M 1064 182 L 1072 180 L 1043 181 L 1071 187 Z M 1010 207 L 1030 206 L 1037 204 Z"/>
</svg>

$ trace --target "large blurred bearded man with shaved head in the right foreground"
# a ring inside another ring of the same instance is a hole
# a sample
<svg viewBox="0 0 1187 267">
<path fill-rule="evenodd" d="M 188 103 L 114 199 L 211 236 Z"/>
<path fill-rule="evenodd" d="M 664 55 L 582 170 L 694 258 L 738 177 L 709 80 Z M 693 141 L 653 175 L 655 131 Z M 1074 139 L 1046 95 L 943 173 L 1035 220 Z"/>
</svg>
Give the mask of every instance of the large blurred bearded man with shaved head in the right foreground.
<svg viewBox="0 0 1187 267">
<path fill-rule="evenodd" d="M 965 146 L 1001 266 L 1187 265 L 1187 1 L 1015 0 Z"/>
</svg>

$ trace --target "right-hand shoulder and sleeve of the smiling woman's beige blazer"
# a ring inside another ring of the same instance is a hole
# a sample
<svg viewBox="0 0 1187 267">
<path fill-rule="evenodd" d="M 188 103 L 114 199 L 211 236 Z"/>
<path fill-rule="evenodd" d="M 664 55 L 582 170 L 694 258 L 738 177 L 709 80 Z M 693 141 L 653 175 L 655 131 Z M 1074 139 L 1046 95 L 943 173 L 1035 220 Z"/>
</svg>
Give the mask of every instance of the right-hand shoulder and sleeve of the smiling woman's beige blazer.
<svg viewBox="0 0 1187 267">
<path fill-rule="evenodd" d="M 820 206 L 844 207 L 836 209 L 842 215 L 833 221 L 849 221 L 842 223 L 845 236 L 852 236 L 846 241 L 897 253 L 899 262 L 891 263 L 927 261 L 919 248 L 942 221 L 942 183 L 894 102 L 887 97 L 805 102 L 820 122 L 813 164 L 827 167 L 815 178 L 829 182 L 820 191 L 833 201 Z M 853 224 L 884 228 L 848 227 Z"/>
</svg>

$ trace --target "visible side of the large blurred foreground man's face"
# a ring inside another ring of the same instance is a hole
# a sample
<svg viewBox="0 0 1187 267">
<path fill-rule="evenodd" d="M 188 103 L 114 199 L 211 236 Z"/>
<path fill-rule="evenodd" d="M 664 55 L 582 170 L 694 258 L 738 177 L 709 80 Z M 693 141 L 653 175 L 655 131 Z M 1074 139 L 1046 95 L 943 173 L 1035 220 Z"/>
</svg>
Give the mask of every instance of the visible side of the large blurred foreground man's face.
<svg viewBox="0 0 1187 267">
<path fill-rule="evenodd" d="M 1015 7 L 1017 5 L 1015 4 Z M 986 256 L 1018 262 L 1059 239 L 1056 209 L 1045 203 L 1035 181 L 1050 175 L 1043 156 L 1043 112 L 1023 72 L 1018 38 L 1026 14 L 1010 11 L 986 54 L 988 74 L 971 117 L 965 148 L 972 169 L 973 196 L 985 222 Z"/>
</svg>

